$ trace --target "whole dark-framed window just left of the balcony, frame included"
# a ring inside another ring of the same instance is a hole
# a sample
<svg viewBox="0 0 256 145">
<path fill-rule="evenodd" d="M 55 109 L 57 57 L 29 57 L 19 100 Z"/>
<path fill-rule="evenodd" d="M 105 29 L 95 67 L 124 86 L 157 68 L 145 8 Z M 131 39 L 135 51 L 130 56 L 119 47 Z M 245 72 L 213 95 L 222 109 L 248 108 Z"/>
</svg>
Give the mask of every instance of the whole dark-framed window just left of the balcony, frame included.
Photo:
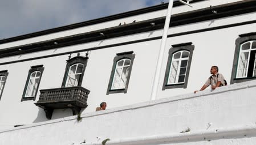
<svg viewBox="0 0 256 145">
<path fill-rule="evenodd" d="M 43 70 L 43 65 L 31 66 L 31 69 L 29 70 L 29 75 L 27 76 L 27 81 L 25 84 L 21 101 L 35 100 L 40 80 L 42 78 Z"/>
</svg>

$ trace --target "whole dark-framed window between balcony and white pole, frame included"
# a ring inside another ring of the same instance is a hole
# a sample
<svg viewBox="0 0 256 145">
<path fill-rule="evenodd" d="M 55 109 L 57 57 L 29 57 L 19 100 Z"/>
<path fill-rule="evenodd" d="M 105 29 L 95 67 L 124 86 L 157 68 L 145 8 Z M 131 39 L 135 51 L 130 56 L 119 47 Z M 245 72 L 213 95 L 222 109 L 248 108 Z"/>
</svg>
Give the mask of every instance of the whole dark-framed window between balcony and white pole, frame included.
<svg viewBox="0 0 256 145">
<path fill-rule="evenodd" d="M 109 93 L 127 93 L 129 78 L 132 70 L 133 52 L 117 53 L 113 60 L 107 95 Z"/>
</svg>

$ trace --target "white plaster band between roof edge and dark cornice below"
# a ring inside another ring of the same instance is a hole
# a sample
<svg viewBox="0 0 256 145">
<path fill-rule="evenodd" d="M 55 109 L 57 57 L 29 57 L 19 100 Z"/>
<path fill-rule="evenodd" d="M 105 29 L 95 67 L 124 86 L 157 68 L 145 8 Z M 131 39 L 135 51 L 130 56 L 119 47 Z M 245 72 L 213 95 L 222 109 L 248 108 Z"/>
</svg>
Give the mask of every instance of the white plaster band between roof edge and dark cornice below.
<svg viewBox="0 0 256 145">
<path fill-rule="evenodd" d="M 210 6 L 217 6 L 217 5 L 223 5 L 225 3 L 231 3 L 231 2 L 237 2 L 241 0 L 210 0 L 210 1 L 202 1 L 202 2 L 197 2 L 197 3 L 192 3 L 193 7 L 188 7 L 185 5 L 181 5 L 178 7 L 173 7 L 172 14 L 178 14 L 181 12 L 188 12 L 188 11 L 193 11 L 193 10 L 198 10 L 200 8 L 208 8 Z M 70 29 L 67 31 L 61 31 L 61 32 L 56 32 L 56 33 L 50 33 L 48 35 L 43 35 L 43 36 L 38 36 L 38 37 L 32 37 L 30 39 L 25 39 L 25 40 L 18 40 L 14 42 L 7 42 L 5 44 L 0 45 L 0 49 L 4 48 L 10 48 L 13 46 L 19 46 L 19 45 L 25 45 L 25 44 L 31 44 L 33 42 L 40 42 L 40 41 L 45 41 L 45 40 L 51 40 L 51 39 L 56 39 L 59 37 L 65 37 L 65 36 L 71 36 L 71 35 L 76 35 L 79 33 L 86 33 L 86 32 L 91 32 L 91 31 L 96 31 L 98 29 L 104 29 L 104 28 L 109 28 L 109 27 L 117 27 L 119 23 L 132 23 L 133 20 L 136 20 L 136 22 L 140 22 L 143 20 L 148 20 L 148 19 L 153 19 L 153 18 L 159 18 L 161 16 L 166 15 L 166 9 L 165 10 L 159 10 L 159 11 L 154 11 L 154 12 L 148 12 L 145 14 L 140 14 L 136 16 L 129 16 L 127 18 L 121 18 L 121 19 L 116 19 L 116 20 L 111 20 L 109 22 L 103 22 L 103 23 L 97 23 L 94 25 L 88 25 L 85 27 L 79 27 L 75 29 Z"/>
</svg>

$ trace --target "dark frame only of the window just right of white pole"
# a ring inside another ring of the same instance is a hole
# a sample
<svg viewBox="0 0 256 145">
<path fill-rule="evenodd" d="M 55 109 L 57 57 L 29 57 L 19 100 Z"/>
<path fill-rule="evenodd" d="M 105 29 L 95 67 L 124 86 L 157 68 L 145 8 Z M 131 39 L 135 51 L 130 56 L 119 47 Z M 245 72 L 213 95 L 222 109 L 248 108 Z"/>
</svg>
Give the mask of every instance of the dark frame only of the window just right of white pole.
<svg viewBox="0 0 256 145">
<path fill-rule="evenodd" d="M 173 54 L 176 52 L 180 52 L 182 50 L 186 50 L 189 52 L 188 65 L 187 65 L 186 77 L 185 77 L 184 83 L 167 84 L 167 82 L 168 82 L 167 79 L 169 76 L 170 65 L 172 63 Z M 194 45 L 192 45 L 192 42 L 186 42 L 186 43 L 182 43 L 182 44 L 172 45 L 172 48 L 169 49 L 169 56 L 168 56 L 168 61 L 167 61 L 167 65 L 166 65 L 162 90 L 170 89 L 170 88 L 186 88 L 188 86 L 188 78 L 189 78 L 189 71 L 190 71 L 190 66 L 191 66 L 191 62 L 192 62 L 193 51 L 194 51 Z"/>
</svg>

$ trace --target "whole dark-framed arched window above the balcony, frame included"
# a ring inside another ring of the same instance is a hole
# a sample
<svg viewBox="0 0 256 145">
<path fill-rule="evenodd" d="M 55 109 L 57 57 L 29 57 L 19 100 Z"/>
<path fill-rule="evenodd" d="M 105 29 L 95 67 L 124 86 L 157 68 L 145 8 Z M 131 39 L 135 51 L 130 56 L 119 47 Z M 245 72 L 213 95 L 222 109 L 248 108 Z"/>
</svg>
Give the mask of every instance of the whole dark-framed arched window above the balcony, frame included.
<svg viewBox="0 0 256 145">
<path fill-rule="evenodd" d="M 81 86 L 88 57 L 76 56 L 67 60 L 62 87 Z"/>
</svg>

